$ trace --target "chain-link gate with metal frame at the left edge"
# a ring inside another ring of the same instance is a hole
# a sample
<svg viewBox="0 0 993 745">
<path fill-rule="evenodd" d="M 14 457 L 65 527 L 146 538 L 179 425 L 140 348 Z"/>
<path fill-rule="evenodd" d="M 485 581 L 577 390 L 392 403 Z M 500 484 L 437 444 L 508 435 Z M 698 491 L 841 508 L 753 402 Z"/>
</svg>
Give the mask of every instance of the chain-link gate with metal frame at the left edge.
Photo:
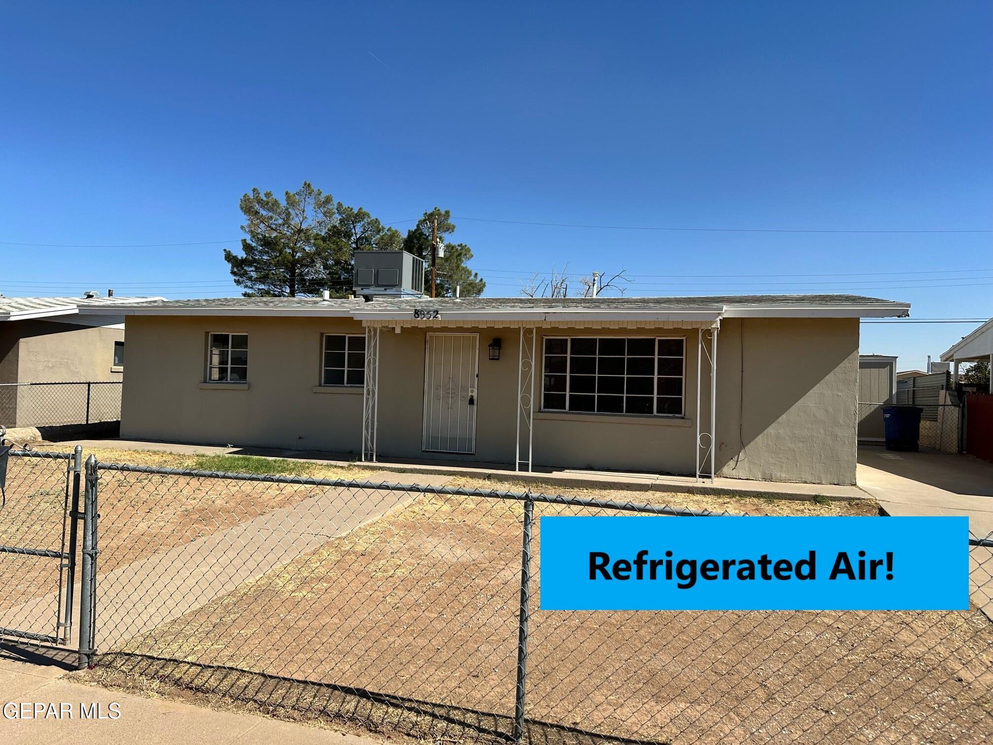
<svg viewBox="0 0 993 745">
<path fill-rule="evenodd" d="M 0 446 L 0 637 L 76 648 L 85 667 L 92 646 L 96 469 L 87 462 L 83 479 L 82 465 L 78 446 L 73 453 Z"/>
</svg>

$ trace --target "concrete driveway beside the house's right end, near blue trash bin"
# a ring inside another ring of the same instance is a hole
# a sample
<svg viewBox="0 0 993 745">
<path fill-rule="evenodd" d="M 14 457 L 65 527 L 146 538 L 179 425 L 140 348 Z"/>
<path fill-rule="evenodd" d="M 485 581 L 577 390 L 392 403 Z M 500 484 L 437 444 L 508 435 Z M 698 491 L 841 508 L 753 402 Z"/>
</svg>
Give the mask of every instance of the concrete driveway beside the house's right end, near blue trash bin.
<svg viewBox="0 0 993 745">
<path fill-rule="evenodd" d="M 859 448 L 858 484 L 889 515 L 965 516 L 973 536 L 993 538 L 993 463 L 969 455 Z M 993 549 L 969 551 L 973 602 L 993 619 Z"/>
</svg>

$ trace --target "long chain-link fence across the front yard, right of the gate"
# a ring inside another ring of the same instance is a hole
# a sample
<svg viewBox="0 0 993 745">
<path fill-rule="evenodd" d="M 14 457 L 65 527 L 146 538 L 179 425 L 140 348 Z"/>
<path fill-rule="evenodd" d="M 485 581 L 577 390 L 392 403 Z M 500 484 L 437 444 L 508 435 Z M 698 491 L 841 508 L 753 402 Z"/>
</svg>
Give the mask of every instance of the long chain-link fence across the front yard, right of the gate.
<svg viewBox="0 0 993 745">
<path fill-rule="evenodd" d="M 543 612 L 540 519 L 706 513 L 98 464 L 93 671 L 424 738 L 984 742 L 961 612 Z M 881 519 L 883 520 L 883 519 Z M 715 540 L 720 540 L 715 535 Z"/>
</svg>

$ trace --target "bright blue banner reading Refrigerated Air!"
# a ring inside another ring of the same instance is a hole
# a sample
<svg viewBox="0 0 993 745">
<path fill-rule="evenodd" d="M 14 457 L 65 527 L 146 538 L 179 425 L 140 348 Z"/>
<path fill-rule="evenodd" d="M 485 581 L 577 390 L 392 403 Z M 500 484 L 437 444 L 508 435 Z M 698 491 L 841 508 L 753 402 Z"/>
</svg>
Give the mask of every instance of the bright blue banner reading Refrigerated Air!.
<svg viewBox="0 0 993 745">
<path fill-rule="evenodd" d="M 966 610 L 968 518 L 543 517 L 541 610 Z"/>
</svg>

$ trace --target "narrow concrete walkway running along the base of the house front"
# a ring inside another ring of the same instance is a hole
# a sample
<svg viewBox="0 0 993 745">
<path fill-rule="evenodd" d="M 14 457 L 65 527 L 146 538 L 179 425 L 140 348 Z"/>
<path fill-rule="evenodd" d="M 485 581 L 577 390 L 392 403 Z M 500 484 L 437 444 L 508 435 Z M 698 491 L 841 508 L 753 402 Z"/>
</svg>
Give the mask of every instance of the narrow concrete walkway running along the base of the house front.
<svg viewBox="0 0 993 745">
<path fill-rule="evenodd" d="M 809 500 L 813 497 L 828 497 L 836 500 L 864 500 L 865 492 L 854 486 L 831 486 L 825 484 L 791 484 L 772 481 L 751 481 L 747 479 L 716 479 L 713 484 L 691 476 L 668 476 L 662 474 L 633 473 L 622 471 L 587 471 L 572 468 L 536 467 L 533 473 L 517 472 L 505 463 L 476 463 L 469 461 L 445 461 L 428 459 L 381 458 L 376 463 L 360 463 L 355 456 L 342 453 L 325 453 L 316 450 L 281 450 L 278 448 L 236 448 L 220 445 L 190 445 L 184 443 L 152 442 L 149 440 L 71 440 L 58 443 L 60 450 L 71 451 L 81 445 L 83 454 L 93 448 L 119 448 L 121 450 L 146 450 L 187 455 L 255 455 L 263 458 L 289 458 L 306 460 L 329 466 L 372 466 L 394 474 L 418 474 L 431 476 L 486 477 L 500 481 L 541 482 L 562 487 L 596 489 L 631 489 L 634 491 L 688 492 L 693 494 L 743 494 L 779 497 L 783 499 Z M 403 481 L 403 479 L 395 479 Z M 416 484 L 424 484 L 423 478 L 410 479 Z"/>
</svg>

